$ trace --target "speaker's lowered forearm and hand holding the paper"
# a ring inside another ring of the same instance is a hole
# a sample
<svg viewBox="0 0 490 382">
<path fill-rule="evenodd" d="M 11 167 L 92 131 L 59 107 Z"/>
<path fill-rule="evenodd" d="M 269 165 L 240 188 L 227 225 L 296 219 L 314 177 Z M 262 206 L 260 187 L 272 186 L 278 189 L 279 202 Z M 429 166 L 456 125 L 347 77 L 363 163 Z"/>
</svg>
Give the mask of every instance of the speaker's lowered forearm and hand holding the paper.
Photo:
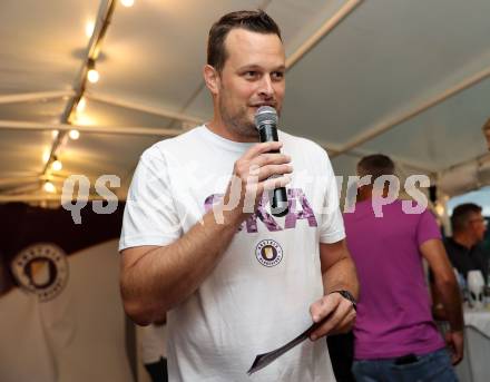
<svg viewBox="0 0 490 382">
<path fill-rule="evenodd" d="M 359 282 L 354 262 L 349 254 L 345 241 L 333 244 L 320 244 L 322 278 L 324 296 L 314 302 L 310 312 L 314 322 L 327 317 L 325 322 L 312 333 L 316 340 L 326 334 L 349 332 L 355 320 L 355 310 L 349 300 L 334 291 L 349 291 L 354 298 L 359 296 Z"/>
</svg>

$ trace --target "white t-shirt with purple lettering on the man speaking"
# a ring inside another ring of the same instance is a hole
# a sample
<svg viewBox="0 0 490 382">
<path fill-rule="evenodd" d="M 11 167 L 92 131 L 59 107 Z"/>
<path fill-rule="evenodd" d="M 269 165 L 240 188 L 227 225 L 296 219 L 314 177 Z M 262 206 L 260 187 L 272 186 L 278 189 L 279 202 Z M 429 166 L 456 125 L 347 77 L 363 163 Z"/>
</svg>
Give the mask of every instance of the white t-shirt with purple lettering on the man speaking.
<svg viewBox="0 0 490 382">
<path fill-rule="evenodd" d="M 264 196 L 213 273 L 167 312 L 170 381 L 334 381 L 325 341 L 306 340 L 246 374 L 257 354 L 312 324 L 310 305 L 323 295 L 318 243 L 345 236 L 326 153 L 307 139 L 278 137 L 294 167 L 290 213 L 272 216 Z M 129 189 L 119 249 L 177 241 L 225 193 L 234 163 L 252 145 L 199 126 L 147 149 Z"/>
</svg>

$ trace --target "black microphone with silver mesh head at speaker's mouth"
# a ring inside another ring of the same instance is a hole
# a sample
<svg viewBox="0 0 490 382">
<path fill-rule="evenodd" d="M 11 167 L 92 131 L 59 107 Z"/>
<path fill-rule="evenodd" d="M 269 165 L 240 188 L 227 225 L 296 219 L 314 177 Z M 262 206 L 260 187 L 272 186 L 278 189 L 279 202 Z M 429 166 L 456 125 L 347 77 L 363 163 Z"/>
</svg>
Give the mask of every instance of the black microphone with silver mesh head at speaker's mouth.
<svg viewBox="0 0 490 382">
<path fill-rule="evenodd" d="M 255 127 L 258 130 L 261 143 L 278 141 L 276 126 L 277 111 L 271 106 L 261 106 L 255 112 Z M 273 150 L 271 153 L 280 153 L 280 150 Z M 287 215 L 288 206 L 286 188 L 275 188 L 271 194 L 271 213 L 276 217 Z"/>
</svg>

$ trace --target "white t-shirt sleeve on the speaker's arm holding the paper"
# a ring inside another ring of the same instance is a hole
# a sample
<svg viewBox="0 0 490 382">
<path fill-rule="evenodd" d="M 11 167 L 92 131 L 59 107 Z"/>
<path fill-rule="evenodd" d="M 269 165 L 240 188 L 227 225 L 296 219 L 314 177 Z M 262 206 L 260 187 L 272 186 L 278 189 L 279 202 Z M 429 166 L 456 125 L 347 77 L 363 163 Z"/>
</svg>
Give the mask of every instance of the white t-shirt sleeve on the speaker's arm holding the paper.
<svg viewBox="0 0 490 382">
<path fill-rule="evenodd" d="M 324 206 L 320 226 L 320 243 L 336 243 L 345 238 L 344 221 L 339 203 L 339 189 L 332 164 L 325 150 L 321 148 L 321 177 L 324 179 Z"/>
</svg>

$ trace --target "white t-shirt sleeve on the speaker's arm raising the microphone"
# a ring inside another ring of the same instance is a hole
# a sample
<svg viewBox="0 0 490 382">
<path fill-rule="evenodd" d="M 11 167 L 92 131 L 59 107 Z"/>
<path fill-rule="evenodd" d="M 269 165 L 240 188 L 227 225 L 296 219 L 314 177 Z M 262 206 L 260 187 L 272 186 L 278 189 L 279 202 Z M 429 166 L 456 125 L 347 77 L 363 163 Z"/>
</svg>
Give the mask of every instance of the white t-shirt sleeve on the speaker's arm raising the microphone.
<svg viewBox="0 0 490 382">
<path fill-rule="evenodd" d="M 122 218 L 119 251 L 140 245 L 167 245 L 182 236 L 164 155 L 151 147 L 133 176 Z"/>
</svg>

